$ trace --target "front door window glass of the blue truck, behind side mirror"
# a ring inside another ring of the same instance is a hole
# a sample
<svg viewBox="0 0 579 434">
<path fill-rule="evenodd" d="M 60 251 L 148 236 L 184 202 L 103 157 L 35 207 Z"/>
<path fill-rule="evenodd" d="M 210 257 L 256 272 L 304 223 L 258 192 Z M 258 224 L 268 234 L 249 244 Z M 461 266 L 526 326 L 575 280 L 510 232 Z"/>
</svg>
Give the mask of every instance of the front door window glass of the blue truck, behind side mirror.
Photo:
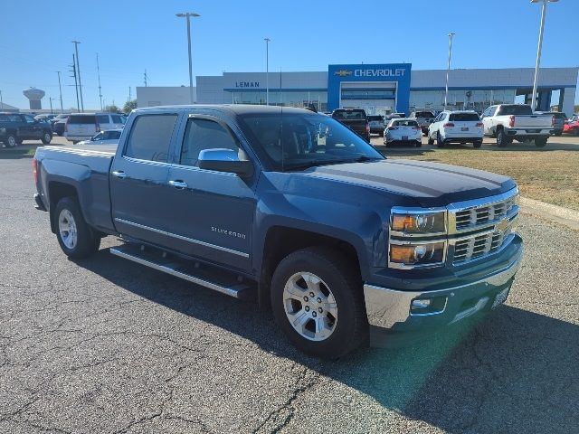
<svg viewBox="0 0 579 434">
<path fill-rule="evenodd" d="M 191 118 L 185 128 L 180 164 L 197 165 L 199 153 L 204 149 L 240 151 L 235 138 L 219 123 L 209 119 Z"/>
</svg>

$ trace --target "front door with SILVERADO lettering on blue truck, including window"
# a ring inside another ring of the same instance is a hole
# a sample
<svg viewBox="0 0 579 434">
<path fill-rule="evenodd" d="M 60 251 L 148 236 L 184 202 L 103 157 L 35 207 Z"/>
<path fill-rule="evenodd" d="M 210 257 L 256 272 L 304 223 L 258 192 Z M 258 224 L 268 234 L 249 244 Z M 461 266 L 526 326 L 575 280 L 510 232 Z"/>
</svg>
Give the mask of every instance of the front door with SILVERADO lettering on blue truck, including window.
<svg viewBox="0 0 579 434">
<path fill-rule="evenodd" d="M 199 168 L 203 149 L 243 152 L 233 130 L 219 118 L 190 115 L 176 164 L 169 169 L 167 232 L 177 250 L 189 255 L 251 269 L 255 195 L 251 180 Z"/>
</svg>

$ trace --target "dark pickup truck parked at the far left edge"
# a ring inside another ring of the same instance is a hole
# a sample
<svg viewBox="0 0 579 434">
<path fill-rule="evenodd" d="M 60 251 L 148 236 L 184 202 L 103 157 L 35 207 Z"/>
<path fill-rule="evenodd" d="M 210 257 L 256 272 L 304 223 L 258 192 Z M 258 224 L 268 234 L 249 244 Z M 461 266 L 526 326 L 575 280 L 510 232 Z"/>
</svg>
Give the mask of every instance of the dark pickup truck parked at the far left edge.
<svg viewBox="0 0 579 434">
<path fill-rule="evenodd" d="M 19 113 L 0 113 L 0 142 L 6 147 L 21 145 L 23 140 L 42 140 L 48 145 L 52 140 L 51 124 Z"/>
</svg>

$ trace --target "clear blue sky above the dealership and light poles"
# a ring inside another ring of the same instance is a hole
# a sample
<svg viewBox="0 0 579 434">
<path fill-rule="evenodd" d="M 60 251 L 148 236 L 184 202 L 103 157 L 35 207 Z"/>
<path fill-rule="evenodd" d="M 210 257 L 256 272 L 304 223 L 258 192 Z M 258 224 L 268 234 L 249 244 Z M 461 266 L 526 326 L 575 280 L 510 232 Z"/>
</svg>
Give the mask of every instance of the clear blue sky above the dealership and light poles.
<svg viewBox="0 0 579 434">
<path fill-rule="evenodd" d="M 541 5 L 529 0 L 0 0 L 0 90 L 6 104 L 28 107 L 22 91 L 76 106 L 69 77 L 73 40 L 85 109 L 100 108 L 97 61 L 105 104 L 122 108 L 129 87 L 188 85 L 186 24 L 192 21 L 195 75 L 265 71 L 327 71 L 332 63 L 410 62 L 413 70 L 445 69 L 449 32 L 452 68 L 534 67 Z M 542 67 L 579 65 L 579 0 L 550 4 Z M 195 80 L 195 78 L 194 78 Z M 195 85 L 195 82 L 194 82 Z M 575 103 L 579 102 L 577 92 Z M 53 100 L 54 107 L 60 102 Z"/>
</svg>

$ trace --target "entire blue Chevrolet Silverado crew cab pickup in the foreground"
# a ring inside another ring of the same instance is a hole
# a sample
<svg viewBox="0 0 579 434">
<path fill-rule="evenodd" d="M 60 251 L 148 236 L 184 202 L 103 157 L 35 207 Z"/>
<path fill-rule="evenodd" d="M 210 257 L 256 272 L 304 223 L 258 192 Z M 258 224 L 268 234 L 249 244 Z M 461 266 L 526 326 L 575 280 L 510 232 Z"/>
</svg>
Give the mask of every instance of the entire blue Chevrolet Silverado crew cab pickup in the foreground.
<svg viewBox="0 0 579 434">
<path fill-rule="evenodd" d="M 117 146 L 39 147 L 33 177 L 69 257 L 119 237 L 111 254 L 255 297 L 320 357 L 498 307 L 523 252 L 510 178 L 385 159 L 306 109 L 137 109 Z"/>
</svg>

